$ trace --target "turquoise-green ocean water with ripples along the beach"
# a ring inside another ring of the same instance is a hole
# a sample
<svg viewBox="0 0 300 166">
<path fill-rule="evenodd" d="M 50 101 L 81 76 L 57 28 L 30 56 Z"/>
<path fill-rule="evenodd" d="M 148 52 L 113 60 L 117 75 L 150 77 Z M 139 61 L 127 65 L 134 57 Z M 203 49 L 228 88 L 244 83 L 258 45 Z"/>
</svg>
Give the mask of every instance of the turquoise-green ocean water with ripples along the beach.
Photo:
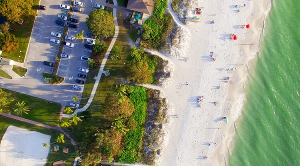
<svg viewBox="0 0 300 166">
<path fill-rule="evenodd" d="M 300 165 L 300 0 L 273 0 L 229 165 Z"/>
</svg>

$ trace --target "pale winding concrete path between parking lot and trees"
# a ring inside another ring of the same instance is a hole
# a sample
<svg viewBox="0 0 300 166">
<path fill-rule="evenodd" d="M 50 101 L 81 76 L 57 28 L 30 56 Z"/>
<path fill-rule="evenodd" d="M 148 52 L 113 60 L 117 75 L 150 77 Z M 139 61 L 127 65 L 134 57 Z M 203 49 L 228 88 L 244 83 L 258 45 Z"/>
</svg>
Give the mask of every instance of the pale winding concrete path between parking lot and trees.
<svg viewBox="0 0 300 166">
<path fill-rule="evenodd" d="M 117 1 L 113 0 L 113 4 L 117 5 Z M 113 35 L 113 38 L 112 38 L 112 40 L 111 40 L 111 42 L 110 42 L 110 44 L 108 46 L 106 54 L 105 54 L 105 56 L 104 56 L 104 58 L 102 60 L 102 63 L 101 63 L 101 66 L 100 66 L 100 69 L 99 69 L 99 72 L 98 72 L 95 84 L 94 84 L 94 86 L 93 86 L 93 88 L 91 90 L 91 93 L 90 93 L 90 96 L 88 98 L 87 103 L 82 108 L 76 109 L 73 114 L 77 114 L 78 112 L 82 112 L 82 111 L 84 111 L 84 110 L 86 110 L 88 108 L 88 106 L 90 105 L 90 103 L 91 103 L 91 101 L 92 101 L 92 99 L 93 99 L 93 97 L 95 95 L 95 92 L 97 90 L 98 83 L 100 81 L 101 75 L 102 75 L 102 73 L 104 73 L 104 66 L 105 66 L 107 57 L 108 57 L 109 52 L 110 52 L 112 46 L 114 45 L 114 42 L 115 42 L 115 40 L 117 38 L 117 35 L 118 35 L 118 24 L 117 24 L 117 19 L 116 19 L 116 8 L 113 8 L 112 15 L 114 17 L 114 20 L 113 20 L 113 22 L 114 22 L 114 29 L 115 29 L 114 30 L 114 35 Z M 72 117 L 72 115 L 71 114 L 63 114 L 62 117 Z"/>
</svg>

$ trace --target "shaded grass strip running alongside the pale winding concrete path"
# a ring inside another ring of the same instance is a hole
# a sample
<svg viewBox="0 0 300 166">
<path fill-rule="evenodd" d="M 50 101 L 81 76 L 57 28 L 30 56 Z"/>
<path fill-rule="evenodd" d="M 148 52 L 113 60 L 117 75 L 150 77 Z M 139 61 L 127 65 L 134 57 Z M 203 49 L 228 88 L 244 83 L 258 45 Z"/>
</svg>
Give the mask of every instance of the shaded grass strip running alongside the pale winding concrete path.
<svg viewBox="0 0 300 166">
<path fill-rule="evenodd" d="M 123 63 L 127 63 L 129 60 L 131 60 L 130 57 L 130 46 L 128 45 L 128 29 L 123 26 L 123 17 L 122 17 L 122 11 L 117 12 L 117 20 L 119 25 L 119 33 L 118 37 L 114 43 L 114 45 L 118 45 L 121 51 L 121 59 L 118 60 L 111 60 L 108 59 L 105 63 L 104 70 L 109 70 L 110 75 L 105 76 L 102 75 L 100 82 L 98 84 L 97 90 L 95 92 L 94 98 L 90 104 L 90 106 L 87 108 L 88 111 L 92 113 L 92 118 L 90 120 L 83 120 L 82 122 L 79 122 L 76 126 L 73 127 L 74 131 L 72 133 L 69 133 L 72 138 L 76 142 L 80 142 L 80 139 L 82 138 L 82 132 L 86 131 L 91 126 L 95 126 L 98 128 L 106 128 L 111 124 L 111 121 L 113 120 L 111 116 L 105 116 L 101 112 L 101 103 L 103 103 L 107 93 L 115 91 L 115 85 L 123 82 Z M 108 46 L 108 45 L 107 45 Z M 97 71 L 96 71 L 97 72 Z M 89 76 L 92 76 L 94 74 L 89 73 Z M 92 78 L 91 78 L 92 79 Z M 87 79 L 86 82 L 89 82 L 90 80 Z M 93 80 L 94 82 L 94 80 Z M 93 83 L 90 81 L 89 84 L 85 84 L 84 91 L 82 94 L 82 97 L 85 97 L 84 93 L 86 93 L 86 89 L 90 90 L 89 88 L 92 88 Z M 89 93 L 90 94 L 90 93 Z M 89 96 L 88 96 L 89 97 Z M 83 99 L 81 99 L 80 104 L 82 104 L 82 101 L 85 102 Z"/>
</svg>

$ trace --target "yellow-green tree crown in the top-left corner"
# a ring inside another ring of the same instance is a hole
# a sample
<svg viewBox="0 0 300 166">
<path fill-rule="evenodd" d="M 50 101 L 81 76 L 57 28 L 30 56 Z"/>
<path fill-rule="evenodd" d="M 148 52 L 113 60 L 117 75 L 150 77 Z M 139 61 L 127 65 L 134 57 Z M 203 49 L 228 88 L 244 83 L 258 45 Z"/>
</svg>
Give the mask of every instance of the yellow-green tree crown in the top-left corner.
<svg viewBox="0 0 300 166">
<path fill-rule="evenodd" d="M 9 22 L 17 22 L 24 14 L 29 13 L 32 0 L 0 0 L 0 4 L 0 15 Z"/>
</svg>

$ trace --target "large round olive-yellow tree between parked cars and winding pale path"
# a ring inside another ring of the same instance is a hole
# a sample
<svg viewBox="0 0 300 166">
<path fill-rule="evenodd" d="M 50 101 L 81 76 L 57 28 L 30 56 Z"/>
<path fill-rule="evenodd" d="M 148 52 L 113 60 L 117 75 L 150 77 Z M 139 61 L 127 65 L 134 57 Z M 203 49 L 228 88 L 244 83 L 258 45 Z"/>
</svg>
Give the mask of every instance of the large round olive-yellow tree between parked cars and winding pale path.
<svg viewBox="0 0 300 166">
<path fill-rule="evenodd" d="M 107 38 L 114 33 L 114 17 L 106 10 L 92 10 L 85 20 L 87 28 L 93 34 Z"/>
</svg>

